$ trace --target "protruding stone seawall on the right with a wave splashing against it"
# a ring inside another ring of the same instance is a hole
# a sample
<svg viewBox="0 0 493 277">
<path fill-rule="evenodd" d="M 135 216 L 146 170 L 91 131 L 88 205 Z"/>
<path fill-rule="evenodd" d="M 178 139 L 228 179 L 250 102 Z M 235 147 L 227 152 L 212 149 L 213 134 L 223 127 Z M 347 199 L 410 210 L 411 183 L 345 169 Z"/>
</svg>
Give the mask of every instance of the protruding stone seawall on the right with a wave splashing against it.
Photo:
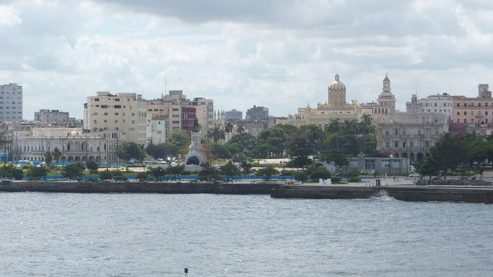
<svg viewBox="0 0 493 277">
<path fill-rule="evenodd" d="M 493 204 L 493 188 L 438 186 L 280 186 L 274 198 L 358 199 L 388 195 L 402 201 L 451 201 Z"/>
</svg>

